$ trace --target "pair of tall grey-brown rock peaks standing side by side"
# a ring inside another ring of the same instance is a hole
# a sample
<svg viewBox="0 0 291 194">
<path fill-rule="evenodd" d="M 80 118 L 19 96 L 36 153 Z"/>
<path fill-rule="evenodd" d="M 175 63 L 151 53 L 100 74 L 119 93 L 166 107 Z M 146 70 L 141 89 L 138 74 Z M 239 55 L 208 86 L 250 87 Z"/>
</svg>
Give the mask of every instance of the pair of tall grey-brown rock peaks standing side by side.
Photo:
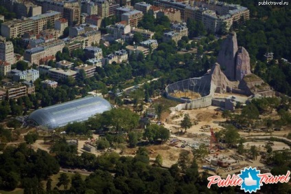
<svg viewBox="0 0 291 194">
<path fill-rule="evenodd" d="M 250 56 L 244 47 L 237 47 L 237 36 L 231 32 L 221 45 L 218 63 L 229 80 L 242 80 L 251 74 Z"/>
</svg>

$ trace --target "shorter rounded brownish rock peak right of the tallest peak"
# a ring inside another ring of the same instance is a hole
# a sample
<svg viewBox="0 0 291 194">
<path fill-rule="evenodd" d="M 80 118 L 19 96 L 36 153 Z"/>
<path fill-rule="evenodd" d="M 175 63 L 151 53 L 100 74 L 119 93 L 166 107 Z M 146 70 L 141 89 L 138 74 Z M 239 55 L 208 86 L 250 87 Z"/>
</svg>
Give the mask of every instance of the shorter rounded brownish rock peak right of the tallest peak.
<svg viewBox="0 0 291 194">
<path fill-rule="evenodd" d="M 251 74 L 250 56 L 244 47 L 240 47 L 235 63 L 235 80 L 240 81 L 248 74 Z"/>
</svg>

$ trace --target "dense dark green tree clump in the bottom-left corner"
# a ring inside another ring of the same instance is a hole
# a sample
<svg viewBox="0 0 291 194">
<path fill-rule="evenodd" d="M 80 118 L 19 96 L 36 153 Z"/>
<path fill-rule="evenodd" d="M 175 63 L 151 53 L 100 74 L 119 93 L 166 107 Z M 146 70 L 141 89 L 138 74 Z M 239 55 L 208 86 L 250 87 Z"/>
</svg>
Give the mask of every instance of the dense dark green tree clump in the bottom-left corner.
<svg viewBox="0 0 291 194">
<path fill-rule="evenodd" d="M 7 147 L 0 155 L 0 189 L 13 190 L 19 183 L 25 186 L 27 179 L 36 183 L 58 173 L 60 166 L 46 151 L 34 151 L 27 144 Z"/>
</svg>

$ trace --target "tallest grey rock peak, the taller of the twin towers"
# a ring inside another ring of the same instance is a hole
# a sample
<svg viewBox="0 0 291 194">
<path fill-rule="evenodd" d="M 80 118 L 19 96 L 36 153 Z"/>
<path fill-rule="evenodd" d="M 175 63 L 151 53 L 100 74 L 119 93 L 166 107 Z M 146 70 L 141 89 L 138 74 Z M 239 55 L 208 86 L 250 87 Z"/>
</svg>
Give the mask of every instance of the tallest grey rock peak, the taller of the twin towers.
<svg viewBox="0 0 291 194">
<path fill-rule="evenodd" d="M 224 68 L 224 74 L 229 80 L 235 80 L 235 56 L 237 51 L 237 37 L 235 32 L 231 32 L 223 41 L 218 54 L 218 63 Z"/>
</svg>

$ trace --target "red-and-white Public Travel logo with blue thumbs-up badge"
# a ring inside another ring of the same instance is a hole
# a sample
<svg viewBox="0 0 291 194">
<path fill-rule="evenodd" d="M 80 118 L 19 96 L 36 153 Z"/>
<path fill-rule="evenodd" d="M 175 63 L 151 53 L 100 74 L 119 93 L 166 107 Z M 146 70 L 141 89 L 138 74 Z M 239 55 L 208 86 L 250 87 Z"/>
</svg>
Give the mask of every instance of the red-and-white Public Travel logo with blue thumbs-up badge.
<svg viewBox="0 0 291 194">
<path fill-rule="evenodd" d="M 227 175 L 226 179 L 222 179 L 219 175 L 208 177 L 208 188 L 212 184 L 217 184 L 219 187 L 224 186 L 240 186 L 244 192 L 255 193 L 263 184 L 277 184 L 278 182 L 289 182 L 290 171 L 286 175 L 272 175 L 271 173 L 261 174 L 256 168 L 248 167 L 240 171 L 238 175 Z"/>
</svg>

